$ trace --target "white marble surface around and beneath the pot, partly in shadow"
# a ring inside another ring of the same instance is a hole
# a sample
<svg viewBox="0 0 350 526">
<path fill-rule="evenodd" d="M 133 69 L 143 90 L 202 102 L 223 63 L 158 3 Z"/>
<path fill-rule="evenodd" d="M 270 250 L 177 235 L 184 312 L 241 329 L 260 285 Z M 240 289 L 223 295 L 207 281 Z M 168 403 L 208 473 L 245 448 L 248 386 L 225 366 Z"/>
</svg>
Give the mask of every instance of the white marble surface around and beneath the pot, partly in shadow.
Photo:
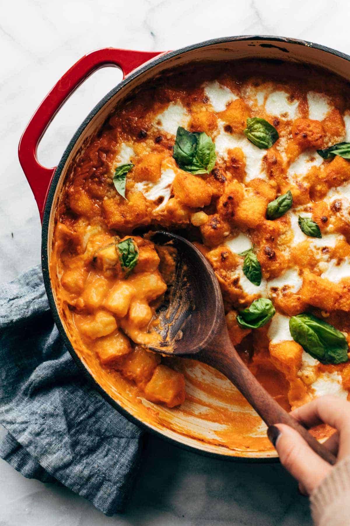
<svg viewBox="0 0 350 526">
<path fill-rule="evenodd" d="M 40 261 L 39 215 L 17 159 L 20 134 L 51 86 L 86 52 L 175 49 L 218 36 L 269 34 L 350 53 L 345 0 L 13 0 L 1 11 L 2 281 Z M 57 164 L 81 120 L 120 77 L 115 68 L 103 69 L 71 97 L 41 141 L 43 164 Z M 0 463 L 2 526 L 309 523 L 307 500 L 279 465 L 207 459 L 155 438 L 145 448 L 128 510 L 113 518 L 65 488 L 26 480 Z"/>
</svg>

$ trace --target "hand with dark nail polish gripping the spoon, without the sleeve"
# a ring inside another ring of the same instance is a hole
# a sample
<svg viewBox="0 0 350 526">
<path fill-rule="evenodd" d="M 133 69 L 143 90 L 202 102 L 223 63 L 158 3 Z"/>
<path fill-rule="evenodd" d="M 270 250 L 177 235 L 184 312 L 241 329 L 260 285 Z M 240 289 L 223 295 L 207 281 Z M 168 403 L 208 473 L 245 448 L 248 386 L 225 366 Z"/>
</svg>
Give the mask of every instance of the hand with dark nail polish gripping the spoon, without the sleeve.
<svg viewBox="0 0 350 526">
<path fill-rule="evenodd" d="M 336 429 L 324 446 L 341 460 L 350 455 L 350 403 L 333 396 L 317 398 L 291 412 L 306 428 L 327 423 Z M 298 480 L 301 493 L 310 495 L 332 470 L 332 466 L 319 457 L 294 429 L 276 424 L 268 429 L 268 437 L 280 461 Z"/>
</svg>

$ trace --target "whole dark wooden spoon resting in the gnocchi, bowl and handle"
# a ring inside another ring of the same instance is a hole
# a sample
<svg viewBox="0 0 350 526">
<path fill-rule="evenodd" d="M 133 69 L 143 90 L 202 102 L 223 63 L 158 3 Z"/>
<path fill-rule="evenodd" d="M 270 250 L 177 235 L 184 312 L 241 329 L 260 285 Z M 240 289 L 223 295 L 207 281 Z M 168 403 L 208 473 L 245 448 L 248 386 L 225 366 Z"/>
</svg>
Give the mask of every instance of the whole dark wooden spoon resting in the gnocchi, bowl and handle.
<svg viewBox="0 0 350 526">
<path fill-rule="evenodd" d="M 158 312 L 159 347 L 152 343 L 149 348 L 162 355 L 192 358 L 222 372 L 268 426 L 288 424 L 320 457 L 334 464 L 333 454 L 281 408 L 239 357 L 228 335 L 218 280 L 203 254 L 185 238 L 170 232 L 155 232 L 152 241 L 173 246 L 177 260 L 167 305 Z"/>
</svg>

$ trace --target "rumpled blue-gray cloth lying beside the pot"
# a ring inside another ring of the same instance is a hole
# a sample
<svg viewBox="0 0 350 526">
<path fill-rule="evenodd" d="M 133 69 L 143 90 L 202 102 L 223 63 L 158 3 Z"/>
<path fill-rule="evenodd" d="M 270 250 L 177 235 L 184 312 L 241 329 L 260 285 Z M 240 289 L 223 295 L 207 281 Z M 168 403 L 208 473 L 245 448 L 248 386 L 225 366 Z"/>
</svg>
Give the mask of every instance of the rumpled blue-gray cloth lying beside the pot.
<svg viewBox="0 0 350 526">
<path fill-rule="evenodd" d="M 25 477 L 55 480 L 106 515 L 121 511 L 142 431 L 114 410 L 71 358 L 40 267 L 0 285 L 0 457 Z"/>
</svg>

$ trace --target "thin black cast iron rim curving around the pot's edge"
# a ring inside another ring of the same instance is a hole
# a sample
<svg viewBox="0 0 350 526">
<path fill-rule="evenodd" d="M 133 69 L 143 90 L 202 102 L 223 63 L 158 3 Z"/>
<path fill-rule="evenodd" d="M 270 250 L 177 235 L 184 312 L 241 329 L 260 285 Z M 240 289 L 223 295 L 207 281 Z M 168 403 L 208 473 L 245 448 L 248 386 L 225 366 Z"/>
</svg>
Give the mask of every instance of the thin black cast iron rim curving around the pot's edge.
<svg viewBox="0 0 350 526">
<path fill-rule="evenodd" d="M 77 129 L 76 133 L 73 135 L 71 140 L 68 143 L 67 148 L 65 149 L 61 160 L 59 161 L 59 164 L 57 165 L 56 171 L 54 176 L 52 177 L 50 188 L 47 195 L 47 200 L 45 204 L 45 211 L 44 211 L 44 217 L 43 217 L 43 227 L 42 227 L 42 234 L 41 234 L 41 268 L 43 270 L 43 277 L 44 277 L 44 284 L 46 289 L 46 294 L 49 300 L 50 309 L 52 312 L 52 316 L 54 318 L 54 321 L 57 325 L 57 328 L 59 330 L 60 336 L 65 342 L 65 345 L 72 356 L 73 360 L 77 363 L 77 366 L 79 369 L 83 372 L 84 376 L 89 379 L 90 382 L 93 383 L 94 388 L 96 388 L 99 393 L 102 395 L 102 397 L 107 400 L 108 403 L 111 404 L 111 406 L 123 414 L 124 417 L 126 417 L 129 421 L 134 423 L 137 427 L 141 427 L 143 430 L 149 431 L 150 433 L 154 434 L 158 438 L 162 438 L 163 440 L 172 443 L 174 446 L 185 449 L 187 451 L 191 451 L 197 454 L 201 454 L 205 457 L 210 458 L 216 458 L 220 460 L 230 460 L 232 462 L 241 462 L 241 463 L 271 463 L 271 462 L 279 462 L 278 457 L 261 457 L 261 458 L 254 458 L 254 457 L 239 457 L 239 456 L 231 456 L 224 453 L 215 453 L 215 452 L 209 452 L 204 451 L 202 449 L 199 449 L 199 447 L 195 446 L 189 446 L 188 444 L 184 444 L 183 442 L 180 442 L 179 440 L 166 437 L 161 431 L 158 431 L 156 429 L 153 429 L 147 424 L 146 422 L 143 422 L 142 420 L 134 417 L 131 413 L 129 413 L 126 409 L 124 409 L 118 402 L 113 400 L 112 397 L 108 395 L 107 392 L 104 391 L 104 389 L 99 385 L 99 383 L 92 377 L 91 373 L 88 371 L 88 369 L 83 365 L 82 361 L 80 360 L 79 356 L 77 355 L 75 349 L 73 348 L 66 331 L 62 325 L 61 318 L 59 316 L 54 295 L 52 293 L 51 289 L 51 281 L 50 281 L 50 273 L 48 268 L 48 250 L 47 250 L 47 242 L 48 242 L 48 231 L 49 231 L 49 222 L 50 222 L 50 213 L 51 213 L 51 207 L 52 202 L 54 200 L 55 190 L 56 186 L 58 184 L 58 181 L 60 179 L 62 170 L 66 164 L 66 161 L 75 146 L 77 140 L 79 139 L 80 135 L 83 133 L 87 125 L 90 123 L 91 119 L 99 112 L 99 110 L 116 94 L 118 93 L 124 86 L 129 84 L 131 80 L 133 80 L 136 77 L 139 77 L 144 72 L 146 72 L 148 69 L 153 68 L 157 64 L 161 64 L 162 62 L 166 62 L 166 60 L 176 57 L 178 55 L 181 55 L 183 53 L 187 53 L 188 51 L 191 51 L 193 49 L 200 49 L 204 48 L 213 44 L 221 44 L 225 42 L 235 42 L 235 41 L 272 41 L 272 42 L 278 42 L 278 43 L 290 43 L 290 44 L 296 44 L 300 46 L 307 46 L 307 47 L 313 47 L 315 49 L 319 49 L 320 51 L 330 53 L 332 55 L 335 55 L 340 58 L 344 58 L 345 60 L 348 60 L 350 62 L 350 56 L 346 55 L 345 53 L 339 52 L 336 49 L 332 49 L 330 47 L 321 46 L 320 44 L 314 44 L 312 42 L 298 40 L 295 38 L 289 38 L 289 37 L 277 37 L 277 36 L 269 36 L 269 35 L 242 35 L 242 36 L 233 36 L 233 37 L 220 37 L 220 38 L 213 38 L 208 41 L 200 42 L 198 44 L 192 44 L 190 46 L 183 47 L 181 49 L 177 49 L 175 51 L 171 51 L 168 53 L 164 53 L 156 58 L 151 59 L 150 62 L 147 62 L 144 66 L 141 66 L 134 70 L 134 72 L 130 73 L 128 76 L 126 76 L 125 79 L 121 80 L 119 84 L 117 84 L 107 95 L 105 95 L 100 102 L 91 110 L 91 112 L 88 114 L 88 116 L 83 120 L 79 128 Z M 276 46 L 279 49 L 282 49 L 280 46 Z M 285 50 L 287 52 L 287 50 Z M 287 57 L 286 57 L 287 58 Z"/>
</svg>

